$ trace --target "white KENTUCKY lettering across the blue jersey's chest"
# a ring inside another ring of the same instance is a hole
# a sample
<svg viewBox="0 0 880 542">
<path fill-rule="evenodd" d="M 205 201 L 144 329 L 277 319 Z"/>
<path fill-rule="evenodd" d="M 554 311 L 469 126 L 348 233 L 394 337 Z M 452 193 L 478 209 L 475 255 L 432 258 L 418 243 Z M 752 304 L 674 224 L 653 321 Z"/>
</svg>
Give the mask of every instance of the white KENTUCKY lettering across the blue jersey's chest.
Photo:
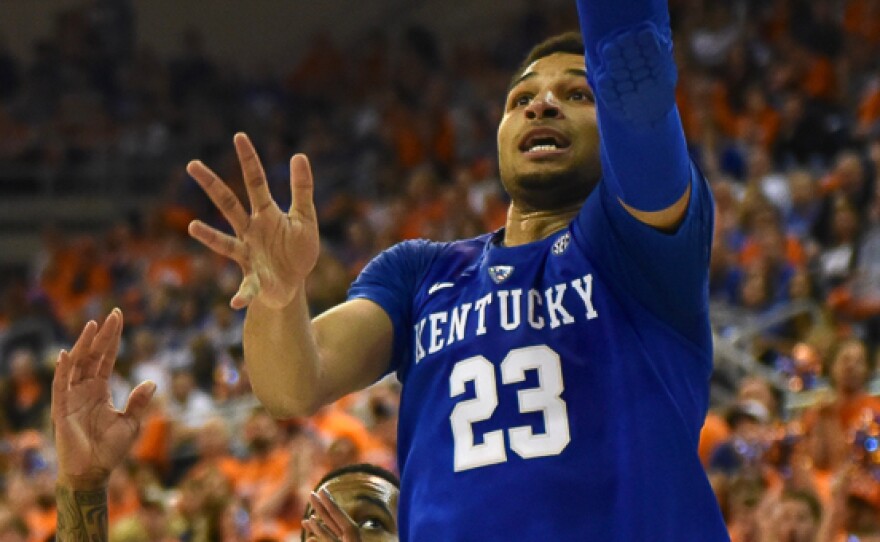
<svg viewBox="0 0 880 542">
<path fill-rule="evenodd" d="M 578 318 L 592 320 L 599 316 L 593 307 L 593 275 L 584 275 L 569 283 L 554 284 L 544 291 L 522 288 L 497 290 L 452 310 L 434 312 L 415 325 L 416 363 L 436 354 L 446 346 L 466 338 L 485 335 L 486 312 L 495 311 L 500 330 L 515 331 L 528 325 L 540 330 L 574 324 Z"/>
</svg>

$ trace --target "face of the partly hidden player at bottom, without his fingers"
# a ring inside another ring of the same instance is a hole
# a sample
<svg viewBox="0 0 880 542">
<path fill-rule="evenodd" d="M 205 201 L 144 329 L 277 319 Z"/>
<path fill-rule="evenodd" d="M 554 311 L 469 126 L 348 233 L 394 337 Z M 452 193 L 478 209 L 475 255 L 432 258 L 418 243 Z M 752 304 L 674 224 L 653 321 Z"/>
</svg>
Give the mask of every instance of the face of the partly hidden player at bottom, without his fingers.
<svg viewBox="0 0 880 542">
<path fill-rule="evenodd" d="M 363 472 L 343 474 L 319 488 L 357 525 L 363 542 L 396 542 L 397 499 L 400 492 L 380 476 Z"/>
</svg>

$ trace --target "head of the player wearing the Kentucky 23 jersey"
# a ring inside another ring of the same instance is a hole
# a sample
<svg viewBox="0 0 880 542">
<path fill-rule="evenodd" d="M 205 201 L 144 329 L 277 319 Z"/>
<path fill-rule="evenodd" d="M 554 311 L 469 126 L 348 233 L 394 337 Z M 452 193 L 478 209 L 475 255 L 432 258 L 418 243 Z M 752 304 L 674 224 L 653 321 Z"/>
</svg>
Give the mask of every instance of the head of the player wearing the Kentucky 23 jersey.
<svg viewBox="0 0 880 542">
<path fill-rule="evenodd" d="M 501 181 L 524 211 L 580 206 L 601 176 L 580 34 L 538 44 L 516 71 L 498 125 Z"/>
</svg>

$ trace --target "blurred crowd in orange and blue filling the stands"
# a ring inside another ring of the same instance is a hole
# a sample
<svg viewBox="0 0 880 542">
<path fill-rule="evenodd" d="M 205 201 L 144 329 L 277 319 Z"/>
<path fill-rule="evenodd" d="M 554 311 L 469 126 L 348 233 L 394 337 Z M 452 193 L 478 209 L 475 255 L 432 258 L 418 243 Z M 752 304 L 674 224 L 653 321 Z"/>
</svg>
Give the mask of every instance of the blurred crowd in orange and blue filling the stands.
<svg viewBox="0 0 880 542">
<path fill-rule="evenodd" d="M 318 313 L 394 242 L 503 225 L 494 134 L 508 79 L 531 45 L 573 28 L 565 4 L 533 2 L 492 43 L 419 26 L 345 45 L 319 33 L 295 65 L 248 73 L 197 29 L 171 58 L 138 48 L 125 0 L 58 14 L 29 62 L 0 39 L 3 197 L 27 191 L 34 168 L 88 190 L 108 161 L 160 195 L 98 235 L 47 225 L 30 268 L 0 284 L 0 537 L 51 536 L 52 366 L 114 306 L 126 325 L 114 401 L 158 384 L 111 480 L 115 540 L 287 540 L 328 469 L 393 469 L 393 377 L 310 419 L 259 408 L 243 314 L 228 306 L 237 268 L 186 235 L 195 217 L 227 226 L 183 167 L 200 158 L 243 196 L 231 136 L 246 131 L 284 208 L 289 157 L 309 156 Z M 880 0 L 670 9 L 679 108 L 717 207 L 713 322 L 748 369 L 714 398 L 700 445 L 731 535 L 880 540 Z"/>
</svg>

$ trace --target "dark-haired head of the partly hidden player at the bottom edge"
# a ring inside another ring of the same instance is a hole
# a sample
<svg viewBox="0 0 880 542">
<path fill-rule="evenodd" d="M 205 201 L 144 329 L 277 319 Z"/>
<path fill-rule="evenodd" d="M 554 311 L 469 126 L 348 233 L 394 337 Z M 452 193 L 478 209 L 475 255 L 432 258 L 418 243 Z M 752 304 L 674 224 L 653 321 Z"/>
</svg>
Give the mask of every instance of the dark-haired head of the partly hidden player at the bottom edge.
<svg viewBox="0 0 880 542">
<path fill-rule="evenodd" d="M 358 526 L 363 542 L 397 542 L 397 501 L 400 481 L 392 472 L 369 463 L 346 465 L 324 475 L 315 486 L 326 489 Z M 303 518 L 313 514 L 306 505 Z M 305 533 L 300 540 L 305 542 Z"/>
</svg>

